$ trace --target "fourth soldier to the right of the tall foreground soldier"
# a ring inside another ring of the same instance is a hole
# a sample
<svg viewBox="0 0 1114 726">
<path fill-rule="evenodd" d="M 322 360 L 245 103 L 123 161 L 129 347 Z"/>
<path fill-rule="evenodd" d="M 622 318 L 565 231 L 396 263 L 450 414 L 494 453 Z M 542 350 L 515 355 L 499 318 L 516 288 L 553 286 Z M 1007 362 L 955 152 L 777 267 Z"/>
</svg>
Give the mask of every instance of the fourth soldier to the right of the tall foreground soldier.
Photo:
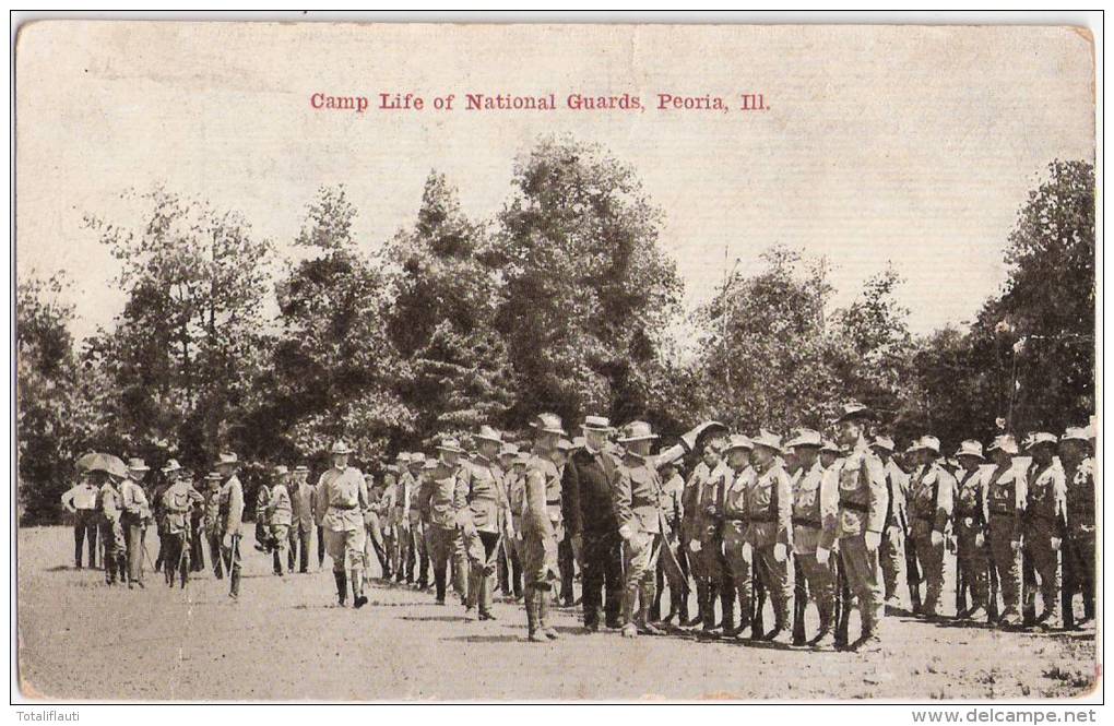
<svg viewBox="0 0 1114 726">
<path fill-rule="evenodd" d="M 1025 472 L 1014 457 L 1017 442 L 1009 434 L 994 439 L 987 448 L 995 468 L 989 474 L 986 490 L 986 539 L 990 546 L 990 565 L 998 578 L 1003 609 L 998 622 L 1007 628 L 1022 624 L 1022 570 L 1018 556 L 1025 530 L 1025 500 L 1028 487 Z"/>
</svg>

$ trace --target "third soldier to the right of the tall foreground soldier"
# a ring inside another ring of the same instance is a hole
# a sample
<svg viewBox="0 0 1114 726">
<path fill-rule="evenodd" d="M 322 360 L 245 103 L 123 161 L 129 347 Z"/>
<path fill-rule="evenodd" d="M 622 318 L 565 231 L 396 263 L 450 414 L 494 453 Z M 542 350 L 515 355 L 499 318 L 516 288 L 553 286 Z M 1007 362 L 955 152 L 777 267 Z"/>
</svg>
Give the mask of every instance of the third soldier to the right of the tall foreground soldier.
<svg viewBox="0 0 1114 726">
<path fill-rule="evenodd" d="M 970 592 L 970 606 L 956 612 L 960 620 L 983 620 L 989 607 L 986 551 L 987 484 L 991 470 L 984 468 L 983 444 L 967 440 L 959 444 L 956 459 L 960 465 L 956 483 L 956 570 Z M 957 585 L 958 587 L 958 585 Z"/>
</svg>

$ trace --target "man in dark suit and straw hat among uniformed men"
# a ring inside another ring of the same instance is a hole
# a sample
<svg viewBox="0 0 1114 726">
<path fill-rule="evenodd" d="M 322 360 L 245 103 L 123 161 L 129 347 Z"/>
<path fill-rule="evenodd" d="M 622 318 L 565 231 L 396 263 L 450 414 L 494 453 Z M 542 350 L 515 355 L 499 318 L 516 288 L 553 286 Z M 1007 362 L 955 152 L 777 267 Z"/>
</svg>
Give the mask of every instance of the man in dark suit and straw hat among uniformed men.
<svg viewBox="0 0 1114 726">
<path fill-rule="evenodd" d="M 623 560 L 618 521 L 612 499 L 618 461 L 607 452 L 610 423 L 603 416 L 584 420 L 585 445 L 573 452 L 566 467 L 563 497 L 569 497 L 567 522 L 571 541 L 583 555 L 584 626 L 599 630 L 599 609 L 605 624 L 618 628 L 623 602 Z M 602 597 L 606 591 L 606 597 Z"/>
</svg>

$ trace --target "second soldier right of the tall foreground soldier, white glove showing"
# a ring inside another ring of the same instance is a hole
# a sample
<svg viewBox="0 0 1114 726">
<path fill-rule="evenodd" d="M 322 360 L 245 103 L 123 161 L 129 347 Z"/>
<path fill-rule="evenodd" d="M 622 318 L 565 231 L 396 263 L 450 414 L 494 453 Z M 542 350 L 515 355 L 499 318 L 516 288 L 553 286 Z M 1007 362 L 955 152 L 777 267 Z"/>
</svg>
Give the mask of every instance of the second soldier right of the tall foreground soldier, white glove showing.
<svg viewBox="0 0 1114 726">
<path fill-rule="evenodd" d="M 949 536 L 956 478 L 940 465 L 940 440 L 925 435 L 911 447 L 917 471 L 909 483 L 909 528 L 925 581 L 921 615 L 939 617 L 944 552 Z"/>
</svg>

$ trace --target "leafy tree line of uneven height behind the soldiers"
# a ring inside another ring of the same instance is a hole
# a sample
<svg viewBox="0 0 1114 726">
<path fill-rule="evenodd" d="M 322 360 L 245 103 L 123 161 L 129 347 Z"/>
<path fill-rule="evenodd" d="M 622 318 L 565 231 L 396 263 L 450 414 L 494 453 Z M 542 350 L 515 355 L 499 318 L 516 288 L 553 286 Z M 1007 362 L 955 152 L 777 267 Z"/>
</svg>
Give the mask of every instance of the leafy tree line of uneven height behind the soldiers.
<svg viewBox="0 0 1114 726">
<path fill-rule="evenodd" d="M 135 195 L 135 193 L 129 193 Z M 207 471 L 214 452 L 315 460 L 348 439 L 373 471 L 480 423 L 600 412 L 676 435 L 824 429 L 858 399 L 899 438 L 946 445 L 1094 411 L 1094 169 L 1054 161 L 1004 239 L 1009 277 L 960 330 L 909 331 L 889 266 L 833 307 L 832 261 L 775 246 L 686 313 L 663 213 L 629 165 L 570 137 L 514 163 L 490 218 L 436 171 L 417 218 L 358 239 L 342 185 L 280 254 L 236 210 L 165 188 L 138 226 L 88 215 L 123 312 L 80 344 L 65 275 L 17 290 L 21 521 L 49 522 L 88 450 Z M 727 273 L 727 271 L 725 271 Z"/>
</svg>

